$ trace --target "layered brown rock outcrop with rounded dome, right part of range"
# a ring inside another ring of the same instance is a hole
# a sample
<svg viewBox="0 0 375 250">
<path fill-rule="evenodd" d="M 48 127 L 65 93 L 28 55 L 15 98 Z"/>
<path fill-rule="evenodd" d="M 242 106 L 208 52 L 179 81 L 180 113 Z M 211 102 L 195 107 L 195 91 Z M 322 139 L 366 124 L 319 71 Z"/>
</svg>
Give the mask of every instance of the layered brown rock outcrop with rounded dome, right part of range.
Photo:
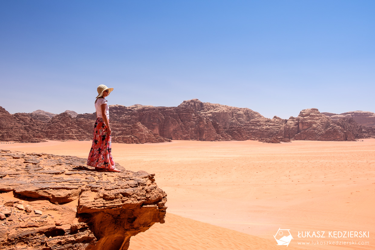
<svg viewBox="0 0 375 250">
<path fill-rule="evenodd" d="M 362 127 L 353 119 L 332 121 L 318 109 L 304 109 L 298 117 L 255 118 L 242 126 L 230 126 L 224 132 L 235 140 L 252 139 L 279 143 L 291 140 L 354 141 Z"/>
</svg>

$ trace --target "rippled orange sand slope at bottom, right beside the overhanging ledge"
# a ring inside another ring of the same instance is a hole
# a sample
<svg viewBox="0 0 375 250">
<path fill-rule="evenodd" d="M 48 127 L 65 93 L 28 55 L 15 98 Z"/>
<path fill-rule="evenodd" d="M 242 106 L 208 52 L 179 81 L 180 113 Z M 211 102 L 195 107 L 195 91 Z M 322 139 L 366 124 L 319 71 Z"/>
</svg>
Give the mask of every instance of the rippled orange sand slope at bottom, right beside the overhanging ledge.
<svg viewBox="0 0 375 250">
<path fill-rule="evenodd" d="M 213 226 L 167 213 L 165 224 L 154 224 L 130 239 L 129 250 L 278 250 L 272 240 Z"/>
</svg>

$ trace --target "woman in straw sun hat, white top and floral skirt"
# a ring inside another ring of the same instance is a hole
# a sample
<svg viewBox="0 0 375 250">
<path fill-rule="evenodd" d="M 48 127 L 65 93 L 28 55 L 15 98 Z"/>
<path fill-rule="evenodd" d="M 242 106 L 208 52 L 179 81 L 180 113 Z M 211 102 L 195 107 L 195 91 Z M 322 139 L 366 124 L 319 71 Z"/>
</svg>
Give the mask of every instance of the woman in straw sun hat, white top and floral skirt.
<svg viewBox="0 0 375 250">
<path fill-rule="evenodd" d="M 113 88 L 106 85 L 98 86 L 98 96 L 95 101 L 96 122 L 94 125 L 94 138 L 87 165 L 95 167 L 96 170 L 107 170 L 109 172 L 121 172 L 115 167 L 111 154 L 111 127 L 110 109 L 107 105 L 107 97 Z"/>
</svg>

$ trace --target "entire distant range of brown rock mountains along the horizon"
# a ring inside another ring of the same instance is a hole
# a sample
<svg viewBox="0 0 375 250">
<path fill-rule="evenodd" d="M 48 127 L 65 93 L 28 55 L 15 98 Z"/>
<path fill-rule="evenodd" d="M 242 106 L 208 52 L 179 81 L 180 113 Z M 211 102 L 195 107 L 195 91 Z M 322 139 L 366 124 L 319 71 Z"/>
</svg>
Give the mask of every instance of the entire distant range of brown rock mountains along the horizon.
<svg viewBox="0 0 375 250">
<path fill-rule="evenodd" d="M 34 115 L 39 117 L 35 118 Z M 44 115 L 43 119 L 41 115 Z M 248 108 L 201 102 L 198 99 L 186 100 L 177 107 L 139 104 L 129 107 L 110 106 L 112 141 L 121 143 L 167 142 L 172 139 L 251 139 L 279 143 L 291 140 L 354 141 L 375 138 L 375 128 L 362 126 L 353 118 L 359 115 L 332 119 L 334 116 L 332 114 L 330 118 L 318 109 L 311 108 L 302 110 L 298 117 L 281 119 L 275 116 L 269 119 Z M 42 112 L 11 115 L 0 108 L 0 119 L 0 141 L 91 140 L 96 113 L 65 111 L 50 118 Z"/>
</svg>

